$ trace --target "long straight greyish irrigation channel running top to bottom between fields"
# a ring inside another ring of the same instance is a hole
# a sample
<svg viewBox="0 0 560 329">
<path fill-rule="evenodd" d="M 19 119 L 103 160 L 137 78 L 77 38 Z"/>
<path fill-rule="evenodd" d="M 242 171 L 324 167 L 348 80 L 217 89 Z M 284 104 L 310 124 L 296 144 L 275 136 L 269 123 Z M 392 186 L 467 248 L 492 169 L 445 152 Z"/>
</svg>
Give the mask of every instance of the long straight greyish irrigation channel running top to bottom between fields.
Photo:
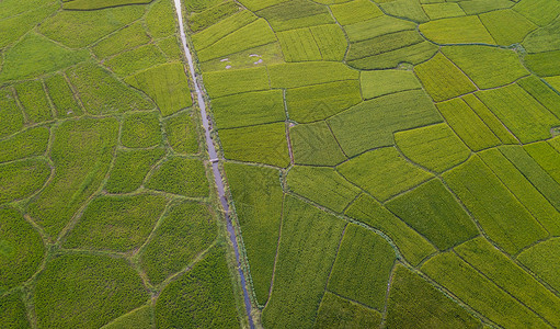
<svg viewBox="0 0 560 329">
<path fill-rule="evenodd" d="M 231 217 L 229 216 L 229 204 L 228 204 L 228 200 L 226 198 L 226 195 L 225 195 L 224 180 L 221 177 L 221 172 L 219 171 L 219 167 L 218 167 L 218 155 L 216 154 L 216 148 L 214 147 L 214 141 L 212 140 L 212 137 L 210 137 L 209 122 L 208 122 L 208 116 L 206 114 L 206 102 L 203 97 L 201 84 L 198 83 L 198 80 L 196 79 L 194 64 L 193 64 L 193 55 L 191 54 L 191 49 L 188 49 L 188 46 L 186 45 L 186 35 L 185 35 L 185 29 L 183 25 L 183 13 L 182 13 L 181 0 L 174 0 L 174 2 L 175 2 L 175 12 L 176 12 L 176 15 L 179 19 L 179 29 L 180 29 L 180 34 L 181 34 L 181 41 L 183 44 L 183 49 L 184 49 L 184 53 L 186 56 L 186 60 L 188 63 L 188 70 L 191 71 L 191 78 L 193 79 L 197 104 L 198 104 L 198 107 L 201 107 L 201 116 L 203 118 L 204 136 L 206 138 L 206 148 L 208 149 L 208 156 L 209 156 L 210 162 L 212 162 L 212 170 L 214 172 L 214 181 L 216 182 L 216 186 L 218 186 L 218 195 L 219 195 L 221 206 L 224 207 L 224 214 L 226 216 L 229 239 L 231 240 L 231 243 L 233 245 L 233 250 L 236 252 L 236 261 L 238 264 L 239 276 L 241 277 L 241 288 L 243 290 L 243 299 L 245 303 L 247 316 L 249 317 L 249 326 L 251 329 L 253 329 L 254 324 L 253 324 L 253 318 L 251 316 L 251 299 L 249 298 L 249 293 L 247 292 L 245 275 L 243 273 L 243 270 L 241 269 L 241 265 L 240 265 L 241 263 L 239 261 L 239 247 L 237 243 L 236 230 L 233 228 L 233 225 L 231 224 Z"/>
</svg>

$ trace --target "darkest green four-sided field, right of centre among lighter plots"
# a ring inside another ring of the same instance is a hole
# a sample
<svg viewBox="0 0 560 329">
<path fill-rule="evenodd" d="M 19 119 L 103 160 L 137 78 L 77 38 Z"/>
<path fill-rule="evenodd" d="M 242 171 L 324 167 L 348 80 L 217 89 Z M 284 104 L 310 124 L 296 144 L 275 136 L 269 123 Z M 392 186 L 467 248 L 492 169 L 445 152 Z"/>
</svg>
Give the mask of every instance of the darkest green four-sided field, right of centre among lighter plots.
<svg viewBox="0 0 560 329">
<path fill-rule="evenodd" d="M 439 180 L 397 196 L 387 208 L 432 241 L 439 250 L 479 234 L 470 216 Z"/>
</svg>

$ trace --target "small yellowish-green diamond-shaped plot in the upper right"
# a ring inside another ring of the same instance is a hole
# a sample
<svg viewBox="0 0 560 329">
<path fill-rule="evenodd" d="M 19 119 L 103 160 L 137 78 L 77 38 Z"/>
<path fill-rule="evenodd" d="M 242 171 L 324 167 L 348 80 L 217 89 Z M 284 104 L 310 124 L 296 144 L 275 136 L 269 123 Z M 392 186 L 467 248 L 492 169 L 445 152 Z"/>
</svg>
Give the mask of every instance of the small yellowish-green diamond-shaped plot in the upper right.
<svg viewBox="0 0 560 329">
<path fill-rule="evenodd" d="M 477 87 L 442 53 L 414 67 L 414 72 L 436 102 L 477 90 Z"/>
</svg>

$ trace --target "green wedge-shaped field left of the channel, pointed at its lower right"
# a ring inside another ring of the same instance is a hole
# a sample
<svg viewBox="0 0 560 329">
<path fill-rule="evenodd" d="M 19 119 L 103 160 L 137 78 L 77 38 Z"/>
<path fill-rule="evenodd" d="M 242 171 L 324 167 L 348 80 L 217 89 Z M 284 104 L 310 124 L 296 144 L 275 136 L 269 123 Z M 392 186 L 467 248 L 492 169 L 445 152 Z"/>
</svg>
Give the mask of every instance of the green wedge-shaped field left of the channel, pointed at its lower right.
<svg viewBox="0 0 560 329">
<path fill-rule="evenodd" d="M 88 63 L 67 71 L 80 100 L 90 114 L 106 114 L 133 110 L 151 110 L 153 103 L 107 70 Z"/>
</svg>

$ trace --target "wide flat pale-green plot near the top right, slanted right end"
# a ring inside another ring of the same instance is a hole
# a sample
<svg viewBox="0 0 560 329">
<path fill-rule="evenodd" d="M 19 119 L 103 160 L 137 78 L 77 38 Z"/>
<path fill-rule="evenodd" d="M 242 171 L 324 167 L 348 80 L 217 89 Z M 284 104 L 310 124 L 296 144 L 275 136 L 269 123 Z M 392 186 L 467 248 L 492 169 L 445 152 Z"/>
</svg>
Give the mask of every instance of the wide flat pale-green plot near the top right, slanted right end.
<svg viewBox="0 0 560 329">
<path fill-rule="evenodd" d="M 483 43 L 494 45 L 495 42 L 480 22 L 478 16 L 450 18 L 431 21 L 420 25 L 428 39 L 439 44 Z"/>
</svg>

